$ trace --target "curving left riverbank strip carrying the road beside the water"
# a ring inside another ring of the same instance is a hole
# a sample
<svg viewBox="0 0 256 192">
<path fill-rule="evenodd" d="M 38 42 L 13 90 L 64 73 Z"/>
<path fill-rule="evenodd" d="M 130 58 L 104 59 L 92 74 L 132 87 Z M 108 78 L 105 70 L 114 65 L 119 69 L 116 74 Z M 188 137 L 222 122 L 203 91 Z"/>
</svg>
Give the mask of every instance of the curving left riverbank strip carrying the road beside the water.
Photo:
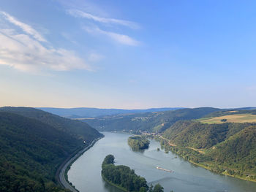
<svg viewBox="0 0 256 192">
<path fill-rule="evenodd" d="M 102 138 L 103 137 L 94 139 L 90 145 L 86 147 L 82 147 L 82 149 L 81 147 L 78 148 L 78 150 L 76 150 L 74 153 L 69 155 L 69 158 L 67 158 L 66 161 L 64 161 L 64 163 L 61 164 L 61 166 L 56 172 L 56 175 L 57 175 L 57 181 L 62 187 L 67 188 L 73 192 L 78 192 L 75 186 L 73 186 L 72 183 L 69 183 L 67 172 L 69 171 L 70 166 L 80 157 L 80 155 L 83 155 L 83 153 L 85 153 L 86 150 L 89 150 L 90 147 L 92 147 L 99 139 L 102 139 Z"/>
</svg>

